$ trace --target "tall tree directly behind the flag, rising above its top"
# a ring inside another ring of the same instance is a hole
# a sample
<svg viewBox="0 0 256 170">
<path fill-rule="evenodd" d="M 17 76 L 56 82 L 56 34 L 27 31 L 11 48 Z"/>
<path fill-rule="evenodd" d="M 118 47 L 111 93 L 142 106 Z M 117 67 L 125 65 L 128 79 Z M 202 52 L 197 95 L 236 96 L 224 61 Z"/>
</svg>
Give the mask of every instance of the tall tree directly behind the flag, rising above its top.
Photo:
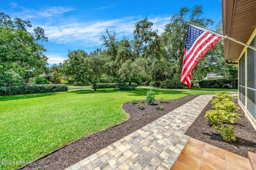
<svg viewBox="0 0 256 170">
<path fill-rule="evenodd" d="M 171 22 L 165 25 L 164 32 L 161 37 L 163 39 L 163 45 L 167 51 L 168 60 L 171 62 L 171 71 L 180 74 L 183 61 L 183 49 L 185 46 L 188 23 L 187 20 L 207 27 L 213 24 L 211 19 L 202 18 L 203 7 L 201 5 L 195 5 L 193 8 L 182 7 L 178 14 L 171 16 Z M 204 58 L 204 57 L 203 57 Z M 200 63 L 204 61 L 201 60 Z M 202 64 L 204 67 L 204 64 Z M 180 81 L 177 79 L 176 81 Z"/>
</svg>

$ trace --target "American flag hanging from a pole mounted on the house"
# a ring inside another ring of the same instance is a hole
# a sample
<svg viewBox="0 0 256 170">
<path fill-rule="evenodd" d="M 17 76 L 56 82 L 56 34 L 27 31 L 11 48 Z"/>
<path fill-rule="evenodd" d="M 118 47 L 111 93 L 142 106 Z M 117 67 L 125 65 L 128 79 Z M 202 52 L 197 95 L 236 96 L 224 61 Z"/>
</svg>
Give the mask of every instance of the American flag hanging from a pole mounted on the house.
<svg viewBox="0 0 256 170">
<path fill-rule="evenodd" d="M 191 88 L 191 72 L 203 57 L 221 37 L 204 31 L 192 25 L 188 25 L 188 34 L 183 53 L 183 64 L 180 81 Z"/>
</svg>

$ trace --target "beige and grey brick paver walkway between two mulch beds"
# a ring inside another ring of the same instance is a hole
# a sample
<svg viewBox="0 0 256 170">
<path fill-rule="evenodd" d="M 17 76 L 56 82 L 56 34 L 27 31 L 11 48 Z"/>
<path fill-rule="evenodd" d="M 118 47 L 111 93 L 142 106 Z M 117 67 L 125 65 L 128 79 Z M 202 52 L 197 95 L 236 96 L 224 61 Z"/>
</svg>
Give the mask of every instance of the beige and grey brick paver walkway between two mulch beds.
<svg viewBox="0 0 256 170">
<path fill-rule="evenodd" d="M 184 133 L 212 95 L 201 95 L 67 169 L 170 169 L 190 137 Z"/>
</svg>

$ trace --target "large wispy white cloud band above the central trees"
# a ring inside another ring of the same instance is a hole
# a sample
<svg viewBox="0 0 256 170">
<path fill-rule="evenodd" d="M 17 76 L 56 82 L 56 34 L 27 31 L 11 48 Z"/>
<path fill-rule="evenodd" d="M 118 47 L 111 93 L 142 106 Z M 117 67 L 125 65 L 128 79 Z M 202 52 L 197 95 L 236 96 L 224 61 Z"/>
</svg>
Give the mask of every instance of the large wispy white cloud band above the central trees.
<svg viewBox="0 0 256 170">
<path fill-rule="evenodd" d="M 100 37 L 106 33 L 115 31 L 118 37 L 133 37 L 135 22 L 142 18 L 129 17 L 115 20 L 94 21 L 94 22 L 62 22 L 59 25 L 41 25 L 46 36 L 54 43 L 68 43 L 93 47 L 101 44 Z M 150 17 L 154 23 L 153 29 L 159 33 L 163 32 L 164 25 L 170 22 L 170 17 Z M 66 24 L 68 23 L 68 24 Z"/>
</svg>

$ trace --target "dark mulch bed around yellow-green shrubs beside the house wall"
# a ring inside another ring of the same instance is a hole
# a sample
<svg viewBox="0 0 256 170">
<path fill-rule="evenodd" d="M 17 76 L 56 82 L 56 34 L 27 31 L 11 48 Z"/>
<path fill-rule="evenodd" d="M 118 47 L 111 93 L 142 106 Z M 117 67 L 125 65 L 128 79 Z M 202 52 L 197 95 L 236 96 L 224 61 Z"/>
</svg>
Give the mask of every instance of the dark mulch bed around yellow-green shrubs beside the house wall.
<svg viewBox="0 0 256 170">
<path fill-rule="evenodd" d="M 206 122 L 204 115 L 206 111 L 212 109 L 211 103 L 205 106 L 201 114 L 199 114 L 185 134 L 244 157 L 247 157 L 247 151 L 256 153 L 256 131 L 239 106 L 237 99 L 234 99 L 234 101 L 239 108 L 238 112 L 241 114 L 241 118 L 239 118 L 236 125 L 234 125 L 236 128 L 235 142 L 228 143 L 222 140 L 219 133 L 214 132 Z"/>
</svg>

